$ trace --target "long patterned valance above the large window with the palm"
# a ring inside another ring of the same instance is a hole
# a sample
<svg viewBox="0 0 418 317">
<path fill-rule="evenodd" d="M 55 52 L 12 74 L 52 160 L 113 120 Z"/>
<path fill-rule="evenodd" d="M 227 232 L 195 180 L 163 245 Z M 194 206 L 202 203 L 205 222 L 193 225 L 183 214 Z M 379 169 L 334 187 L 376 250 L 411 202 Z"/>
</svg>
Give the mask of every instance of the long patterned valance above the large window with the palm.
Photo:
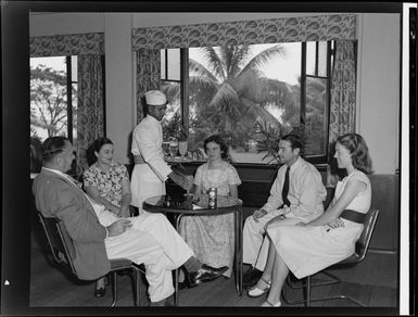
<svg viewBox="0 0 418 317">
<path fill-rule="evenodd" d="M 332 14 L 132 29 L 132 50 L 356 39 L 356 15 Z"/>
</svg>

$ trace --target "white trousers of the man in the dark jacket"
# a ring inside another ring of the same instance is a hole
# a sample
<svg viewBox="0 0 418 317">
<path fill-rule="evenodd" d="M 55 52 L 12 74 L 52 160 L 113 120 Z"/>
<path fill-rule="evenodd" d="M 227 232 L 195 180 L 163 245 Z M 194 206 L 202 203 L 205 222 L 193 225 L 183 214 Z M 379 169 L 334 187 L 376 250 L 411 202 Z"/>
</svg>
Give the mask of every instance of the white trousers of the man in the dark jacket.
<svg viewBox="0 0 418 317">
<path fill-rule="evenodd" d="M 99 216 L 104 226 L 117 219 L 107 211 Z M 172 270 L 193 256 L 192 250 L 162 214 L 143 213 L 127 219 L 132 221 L 130 228 L 104 240 L 107 257 L 126 257 L 144 264 L 151 302 L 170 296 L 174 293 Z"/>
</svg>

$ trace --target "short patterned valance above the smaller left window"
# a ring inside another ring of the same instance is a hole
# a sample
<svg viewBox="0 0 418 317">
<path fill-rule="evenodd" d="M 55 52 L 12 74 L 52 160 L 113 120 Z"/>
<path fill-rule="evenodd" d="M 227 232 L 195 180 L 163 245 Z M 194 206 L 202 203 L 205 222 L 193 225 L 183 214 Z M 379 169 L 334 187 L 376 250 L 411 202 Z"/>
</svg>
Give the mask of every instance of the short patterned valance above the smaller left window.
<svg viewBox="0 0 418 317">
<path fill-rule="evenodd" d="M 39 36 L 29 38 L 30 58 L 104 54 L 104 34 Z"/>
</svg>

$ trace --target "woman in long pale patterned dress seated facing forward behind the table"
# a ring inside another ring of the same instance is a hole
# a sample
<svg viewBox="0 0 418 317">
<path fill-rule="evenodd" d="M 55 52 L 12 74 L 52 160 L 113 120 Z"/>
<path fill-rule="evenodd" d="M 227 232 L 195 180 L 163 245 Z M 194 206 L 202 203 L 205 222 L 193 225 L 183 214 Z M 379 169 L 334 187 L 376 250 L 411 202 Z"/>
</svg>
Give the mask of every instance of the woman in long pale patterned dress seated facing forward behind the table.
<svg viewBox="0 0 418 317">
<path fill-rule="evenodd" d="M 228 147 L 215 135 L 204 141 L 208 162 L 198 167 L 194 176 L 193 194 L 205 194 L 212 187 L 217 194 L 238 199 L 241 185 L 237 169 L 229 164 Z M 211 266 L 228 266 L 225 277 L 231 276 L 233 262 L 233 214 L 216 216 L 185 216 L 180 223 L 180 234 L 194 251 L 195 256 Z"/>
</svg>

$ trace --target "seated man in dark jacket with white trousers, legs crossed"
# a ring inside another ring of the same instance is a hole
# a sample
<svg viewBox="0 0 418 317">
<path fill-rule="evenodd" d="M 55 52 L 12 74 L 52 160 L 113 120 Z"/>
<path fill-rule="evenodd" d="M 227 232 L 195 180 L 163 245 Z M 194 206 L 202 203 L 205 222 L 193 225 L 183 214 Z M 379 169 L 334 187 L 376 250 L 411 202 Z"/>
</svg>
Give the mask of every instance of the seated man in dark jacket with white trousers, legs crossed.
<svg viewBox="0 0 418 317">
<path fill-rule="evenodd" d="M 191 286 L 212 280 L 228 267 L 202 265 L 164 215 L 145 213 L 117 218 L 94 203 L 65 174 L 74 160 L 65 137 L 42 144 L 43 166 L 35 178 L 36 207 L 46 217 L 60 218 L 74 240 L 78 278 L 98 279 L 110 270 L 110 258 L 125 257 L 145 265 L 151 305 L 166 305 L 174 293 L 172 270 L 185 266 Z"/>
</svg>

